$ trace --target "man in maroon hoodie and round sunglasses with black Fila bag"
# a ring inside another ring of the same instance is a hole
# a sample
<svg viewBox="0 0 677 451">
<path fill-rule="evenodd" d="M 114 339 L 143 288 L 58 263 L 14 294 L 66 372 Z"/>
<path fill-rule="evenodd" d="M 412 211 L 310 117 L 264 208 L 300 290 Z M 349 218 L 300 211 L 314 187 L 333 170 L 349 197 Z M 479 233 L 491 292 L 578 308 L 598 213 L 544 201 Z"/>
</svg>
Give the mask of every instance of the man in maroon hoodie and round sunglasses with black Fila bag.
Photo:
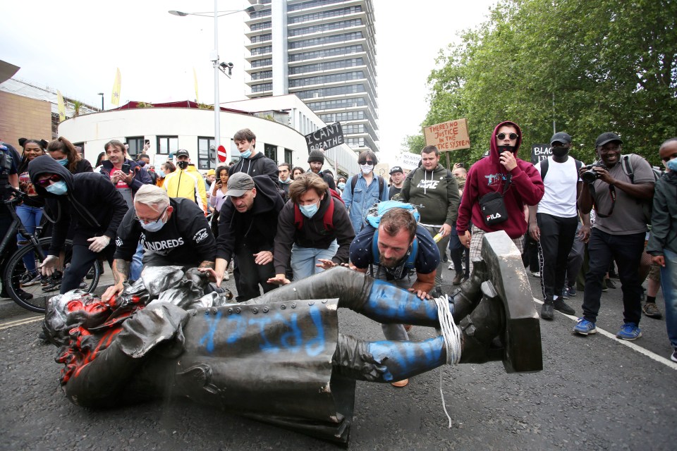
<svg viewBox="0 0 677 451">
<path fill-rule="evenodd" d="M 484 233 L 505 230 L 520 252 L 523 251 L 522 237 L 527 231 L 524 207 L 538 204 L 544 187 L 536 168 L 517 158 L 520 144 L 519 126 L 510 121 L 501 122 L 492 133 L 489 156 L 470 166 L 456 222 L 461 243 L 470 248 L 470 271 L 472 259 L 480 258 Z M 504 210 L 487 206 L 482 211 L 480 204 L 487 200 L 482 197 L 490 193 L 495 193 L 490 197 L 503 194 Z"/>
</svg>

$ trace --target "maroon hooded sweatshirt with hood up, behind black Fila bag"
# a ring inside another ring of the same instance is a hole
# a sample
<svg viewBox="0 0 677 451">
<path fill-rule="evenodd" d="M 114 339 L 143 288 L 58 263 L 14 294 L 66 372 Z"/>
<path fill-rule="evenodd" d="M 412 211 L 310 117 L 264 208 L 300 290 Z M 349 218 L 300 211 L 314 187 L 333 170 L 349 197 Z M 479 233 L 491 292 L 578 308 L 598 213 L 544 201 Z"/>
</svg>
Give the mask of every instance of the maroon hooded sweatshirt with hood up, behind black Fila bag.
<svg viewBox="0 0 677 451">
<path fill-rule="evenodd" d="M 503 125 L 513 125 L 517 129 L 519 137 L 514 149 L 517 166 L 510 171 L 511 183 L 504 194 L 508 220 L 487 226 L 480 209 L 480 198 L 484 194 L 489 194 L 489 192 L 503 192 L 506 175 L 508 175 L 508 171 L 499 160 L 500 154 L 495 138 L 497 130 Z M 538 204 L 545 192 L 543 181 L 534 165 L 517 157 L 522 144 L 522 130 L 516 123 L 510 121 L 499 123 L 494 128 L 490 139 L 489 157 L 477 161 L 470 166 L 470 171 L 468 171 L 461 207 L 458 209 L 456 230 L 458 235 L 465 235 L 465 231 L 468 230 L 468 223 L 472 219 L 472 224 L 485 232 L 505 230 L 509 237 L 518 238 L 527 231 L 524 206 Z"/>
</svg>

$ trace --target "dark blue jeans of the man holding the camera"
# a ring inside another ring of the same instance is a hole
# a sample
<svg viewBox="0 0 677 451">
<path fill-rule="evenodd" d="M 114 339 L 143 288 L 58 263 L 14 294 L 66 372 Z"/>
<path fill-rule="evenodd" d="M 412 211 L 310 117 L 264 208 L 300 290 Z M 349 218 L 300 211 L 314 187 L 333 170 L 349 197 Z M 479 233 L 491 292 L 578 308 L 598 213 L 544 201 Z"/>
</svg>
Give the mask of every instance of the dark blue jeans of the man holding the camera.
<svg viewBox="0 0 677 451">
<path fill-rule="evenodd" d="M 645 233 L 633 235 L 611 235 L 592 228 L 587 251 L 590 254 L 590 269 L 585 275 L 583 292 L 583 318 L 594 323 L 599 313 L 599 299 L 602 297 L 602 283 L 611 261 L 618 265 L 618 278 L 623 291 L 623 323 L 640 323 L 642 306 L 640 296 L 642 285 L 637 268 L 644 252 Z"/>
</svg>

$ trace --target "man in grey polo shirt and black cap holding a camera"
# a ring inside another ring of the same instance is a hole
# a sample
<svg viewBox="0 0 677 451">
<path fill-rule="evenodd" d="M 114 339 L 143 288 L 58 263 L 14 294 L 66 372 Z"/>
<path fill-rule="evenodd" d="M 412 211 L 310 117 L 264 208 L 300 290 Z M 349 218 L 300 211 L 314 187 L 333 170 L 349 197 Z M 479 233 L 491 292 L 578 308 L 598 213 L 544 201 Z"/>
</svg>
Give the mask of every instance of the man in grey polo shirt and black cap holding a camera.
<svg viewBox="0 0 677 451">
<path fill-rule="evenodd" d="M 641 156 L 622 155 L 622 144 L 616 133 L 602 133 L 595 142 L 599 161 L 580 169 L 584 183 L 578 208 L 587 214 L 594 207 L 596 219 L 587 244 L 590 270 L 585 275 L 583 318 L 578 319 L 573 331 L 580 335 L 597 332 L 594 323 L 599 313 L 602 281 L 609 263 L 615 260 L 623 287 L 623 326 L 616 336 L 636 340 L 642 336 L 638 267 L 647 232 L 642 203 L 649 202 L 654 195 L 654 175 Z M 633 175 L 623 168 L 626 159 Z"/>
</svg>

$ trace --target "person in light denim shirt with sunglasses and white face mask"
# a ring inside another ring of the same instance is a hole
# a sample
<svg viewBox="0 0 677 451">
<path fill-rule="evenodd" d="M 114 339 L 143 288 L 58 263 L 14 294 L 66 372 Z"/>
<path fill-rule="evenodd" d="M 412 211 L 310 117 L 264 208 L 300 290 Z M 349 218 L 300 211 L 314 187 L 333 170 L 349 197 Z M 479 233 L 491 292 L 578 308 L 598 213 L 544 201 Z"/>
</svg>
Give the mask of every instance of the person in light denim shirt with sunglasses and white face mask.
<svg viewBox="0 0 677 451">
<path fill-rule="evenodd" d="M 343 202 L 350 211 L 350 222 L 357 235 L 365 223 L 365 216 L 370 207 L 377 202 L 388 200 L 388 185 L 381 175 L 374 177 L 374 167 L 379 163 L 376 154 L 365 150 L 358 156 L 360 173 L 346 181 L 343 190 Z"/>
</svg>

